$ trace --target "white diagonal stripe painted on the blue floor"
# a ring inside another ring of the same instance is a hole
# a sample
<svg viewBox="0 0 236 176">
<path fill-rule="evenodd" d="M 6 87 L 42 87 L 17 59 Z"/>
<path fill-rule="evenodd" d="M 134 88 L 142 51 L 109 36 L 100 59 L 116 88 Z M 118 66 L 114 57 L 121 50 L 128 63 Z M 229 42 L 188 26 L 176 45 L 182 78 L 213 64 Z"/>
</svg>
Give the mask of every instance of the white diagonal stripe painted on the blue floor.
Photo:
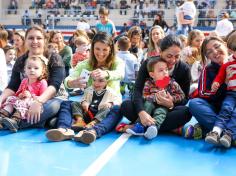
<svg viewBox="0 0 236 176">
<path fill-rule="evenodd" d="M 104 167 L 111 157 L 125 144 L 131 134 L 122 134 L 110 147 L 108 147 L 83 173 L 81 176 L 93 176 Z"/>
</svg>

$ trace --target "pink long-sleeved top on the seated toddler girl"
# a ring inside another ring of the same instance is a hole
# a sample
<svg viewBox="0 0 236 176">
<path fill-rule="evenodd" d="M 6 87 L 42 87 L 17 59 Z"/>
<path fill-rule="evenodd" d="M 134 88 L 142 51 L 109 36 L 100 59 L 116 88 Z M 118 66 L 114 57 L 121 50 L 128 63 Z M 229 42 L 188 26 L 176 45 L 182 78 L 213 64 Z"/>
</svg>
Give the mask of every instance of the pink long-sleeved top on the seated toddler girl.
<svg viewBox="0 0 236 176">
<path fill-rule="evenodd" d="M 25 90 L 28 90 L 31 95 L 40 96 L 48 87 L 48 83 L 45 79 L 42 79 L 41 81 L 36 81 L 32 84 L 28 84 L 28 78 L 24 78 L 20 84 L 20 87 L 18 88 L 16 92 L 16 96 L 18 96 L 20 93 L 24 92 Z"/>
</svg>

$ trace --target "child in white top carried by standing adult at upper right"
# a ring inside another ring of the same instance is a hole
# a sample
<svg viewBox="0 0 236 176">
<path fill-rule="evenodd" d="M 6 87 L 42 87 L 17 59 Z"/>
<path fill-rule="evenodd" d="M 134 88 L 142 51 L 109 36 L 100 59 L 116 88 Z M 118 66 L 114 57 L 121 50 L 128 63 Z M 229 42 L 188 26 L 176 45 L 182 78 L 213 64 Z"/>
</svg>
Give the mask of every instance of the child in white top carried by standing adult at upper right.
<svg viewBox="0 0 236 176">
<path fill-rule="evenodd" d="M 185 20 L 193 20 L 196 15 L 196 7 L 193 0 L 186 0 L 182 6 L 180 6 L 180 11 L 183 12 L 183 17 Z M 182 24 L 182 30 L 186 31 L 188 27 L 188 31 L 192 31 L 192 24 Z"/>
</svg>

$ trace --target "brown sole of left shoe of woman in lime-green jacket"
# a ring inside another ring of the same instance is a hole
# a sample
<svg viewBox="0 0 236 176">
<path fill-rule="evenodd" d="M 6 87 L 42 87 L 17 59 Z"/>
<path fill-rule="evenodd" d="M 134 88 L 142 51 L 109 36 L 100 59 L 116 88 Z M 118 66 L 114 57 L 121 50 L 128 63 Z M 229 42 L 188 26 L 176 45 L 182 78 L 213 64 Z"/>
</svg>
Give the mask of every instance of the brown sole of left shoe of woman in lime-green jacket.
<svg viewBox="0 0 236 176">
<path fill-rule="evenodd" d="M 47 131 L 46 136 L 48 140 L 53 141 L 53 142 L 69 140 L 74 137 L 73 135 L 64 135 L 61 131 L 58 131 L 57 129 Z"/>
</svg>

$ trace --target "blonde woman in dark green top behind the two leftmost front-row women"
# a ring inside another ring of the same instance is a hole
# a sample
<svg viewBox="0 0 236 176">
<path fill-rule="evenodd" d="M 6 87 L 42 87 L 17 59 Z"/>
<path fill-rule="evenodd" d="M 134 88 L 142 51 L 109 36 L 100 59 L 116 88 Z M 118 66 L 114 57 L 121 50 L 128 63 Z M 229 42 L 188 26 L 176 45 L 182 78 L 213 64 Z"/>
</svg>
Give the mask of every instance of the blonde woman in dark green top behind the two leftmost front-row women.
<svg viewBox="0 0 236 176">
<path fill-rule="evenodd" d="M 69 70 L 71 68 L 71 58 L 72 58 L 72 49 L 64 43 L 62 33 L 60 31 L 50 32 L 49 42 L 58 44 L 59 54 L 62 57 L 62 60 L 65 64 L 66 76 L 69 75 Z"/>
</svg>

